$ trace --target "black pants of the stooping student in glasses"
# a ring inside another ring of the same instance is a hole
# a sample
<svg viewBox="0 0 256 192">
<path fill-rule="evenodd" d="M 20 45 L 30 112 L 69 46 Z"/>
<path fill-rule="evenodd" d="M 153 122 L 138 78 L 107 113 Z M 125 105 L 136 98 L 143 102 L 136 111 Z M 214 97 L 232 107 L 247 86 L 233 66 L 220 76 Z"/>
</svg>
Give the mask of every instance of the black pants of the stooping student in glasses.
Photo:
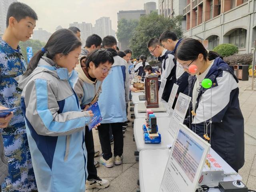
<svg viewBox="0 0 256 192">
<path fill-rule="evenodd" d="M 89 131 L 88 126 L 85 127 L 85 146 L 87 150 L 87 170 L 88 170 L 88 180 L 97 178 L 97 169 L 94 166 L 94 142 L 92 136 L 92 130 Z"/>
</svg>

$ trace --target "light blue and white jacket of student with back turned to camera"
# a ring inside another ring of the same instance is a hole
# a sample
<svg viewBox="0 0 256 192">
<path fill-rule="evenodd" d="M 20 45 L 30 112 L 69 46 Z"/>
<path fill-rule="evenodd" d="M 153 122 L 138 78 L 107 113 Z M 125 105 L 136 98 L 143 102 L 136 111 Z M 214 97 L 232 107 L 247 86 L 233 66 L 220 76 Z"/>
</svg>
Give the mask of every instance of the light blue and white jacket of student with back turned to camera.
<svg viewBox="0 0 256 192">
<path fill-rule="evenodd" d="M 112 72 L 102 82 L 102 93 L 98 100 L 101 123 L 118 123 L 127 120 L 126 101 L 128 102 L 130 81 L 126 60 L 114 56 L 111 70 Z"/>
</svg>

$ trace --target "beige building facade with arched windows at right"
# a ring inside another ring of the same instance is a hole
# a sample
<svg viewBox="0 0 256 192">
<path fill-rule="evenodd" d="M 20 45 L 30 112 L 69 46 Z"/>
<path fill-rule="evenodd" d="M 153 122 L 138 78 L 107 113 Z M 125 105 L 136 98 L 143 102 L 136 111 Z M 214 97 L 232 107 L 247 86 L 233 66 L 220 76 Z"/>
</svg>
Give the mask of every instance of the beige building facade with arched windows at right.
<svg viewBox="0 0 256 192">
<path fill-rule="evenodd" d="M 187 0 L 184 36 L 208 40 L 208 49 L 218 44 L 238 46 L 251 53 L 256 39 L 255 0 Z"/>
</svg>

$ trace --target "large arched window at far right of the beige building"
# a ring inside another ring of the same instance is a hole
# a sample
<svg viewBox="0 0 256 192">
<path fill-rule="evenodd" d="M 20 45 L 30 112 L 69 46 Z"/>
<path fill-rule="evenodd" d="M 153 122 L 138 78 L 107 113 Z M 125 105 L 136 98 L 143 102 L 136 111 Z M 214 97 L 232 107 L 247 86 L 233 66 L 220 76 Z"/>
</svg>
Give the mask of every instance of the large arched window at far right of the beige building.
<svg viewBox="0 0 256 192">
<path fill-rule="evenodd" d="M 229 35 L 229 43 L 236 45 L 239 49 L 246 46 L 246 29 L 237 29 Z"/>
</svg>

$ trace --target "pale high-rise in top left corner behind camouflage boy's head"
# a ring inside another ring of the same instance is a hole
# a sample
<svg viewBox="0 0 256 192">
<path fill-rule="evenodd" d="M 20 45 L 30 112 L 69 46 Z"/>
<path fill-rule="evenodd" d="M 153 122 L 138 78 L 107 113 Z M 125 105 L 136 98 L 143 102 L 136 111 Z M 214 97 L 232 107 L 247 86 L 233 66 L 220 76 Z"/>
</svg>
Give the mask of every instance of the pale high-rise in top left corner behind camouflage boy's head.
<svg viewBox="0 0 256 192">
<path fill-rule="evenodd" d="M 0 0 L 0 35 L 4 34 L 6 29 L 7 11 L 13 2 L 17 2 L 17 0 Z"/>
</svg>

